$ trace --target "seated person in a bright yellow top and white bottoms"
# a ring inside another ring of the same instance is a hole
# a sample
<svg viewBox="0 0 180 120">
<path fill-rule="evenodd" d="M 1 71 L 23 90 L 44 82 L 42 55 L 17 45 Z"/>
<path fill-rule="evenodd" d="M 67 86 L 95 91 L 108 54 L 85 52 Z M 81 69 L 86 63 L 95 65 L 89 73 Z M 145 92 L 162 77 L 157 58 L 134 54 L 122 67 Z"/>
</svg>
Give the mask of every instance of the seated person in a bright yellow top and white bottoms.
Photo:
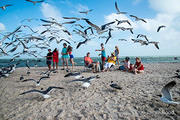
<svg viewBox="0 0 180 120">
<path fill-rule="evenodd" d="M 111 53 L 111 56 L 108 57 L 107 63 L 104 65 L 103 71 L 108 71 L 112 65 L 116 64 L 116 56 L 115 53 Z"/>
</svg>

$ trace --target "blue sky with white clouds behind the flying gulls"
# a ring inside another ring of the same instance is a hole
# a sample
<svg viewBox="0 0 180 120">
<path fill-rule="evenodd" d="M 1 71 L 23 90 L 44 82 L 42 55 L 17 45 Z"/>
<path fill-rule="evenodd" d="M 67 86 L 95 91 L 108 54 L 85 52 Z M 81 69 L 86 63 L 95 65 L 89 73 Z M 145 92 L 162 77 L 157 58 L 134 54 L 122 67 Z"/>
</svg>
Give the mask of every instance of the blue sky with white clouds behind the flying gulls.
<svg viewBox="0 0 180 120">
<path fill-rule="evenodd" d="M 114 6 L 115 1 L 117 1 L 120 11 L 128 14 L 117 15 Z M 114 28 L 112 38 L 105 45 L 107 54 L 113 52 L 115 45 L 117 45 L 120 49 L 120 56 L 180 56 L 180 0 L 45 0 L 44 3 L 36 5 L 25 0 L 0 0 L 0 6 L 5 4 L 12 4 L 13 6 L 7 7 L 5 11 L 0 10 L 0 33 L 13 31 L 26 18 L 47 19 L 53 17 L 61 23 L 65 21 L 62 18 L 63 16 L 86 17 L 98 26 L 115 19 L 127 19 L 132 26 L 126 23 L 120 26 L 133 27 L 134 34 L 115 29 L 115 25 L 112 25 L 111 27 Z M 88 9 L 93 9 L 88 15 L 78 12 Z M 129 15 L 143 18 L 147 23 L 135 21 Z M 39 27 L 40 21 L 23 24 L 42 31 Z M 156 32 L 160 25 L 165 25 L 166 28 Z M 70 31 L 73 29 L 71 25 L 67 25 L 66 28 Z M 136 38 L 138 34 L 145 34 L 150 41 L 159 42 L 160 49 L 156 49 L 154 45 L 141 46 L 138 43 L 133 43 L 131 39 Z M 104 35 L 107 36 L 108 33 Z M 62 38 L 66 38 L 66 36 L 62 35 Z M 118 41 L 121 38 L 128 41 Z M 71 39 L 78 42 L 84 40 L 74 34 Z M 83 57 L 87 52 L 91 52 L 91 56 L 97 57 L 99 52 L 95 52 L 95 49 L 99 49 L 100 43 L 105 43 L 105 41 L 106 39 L 98 39 L 97 37 L 80 46 L 79 49 L 76 49 L 78 43 L 72 42 L 73 54 L 75 57 Z M 50 46 L 52 49 L 57 47 L 61 51 L 62 44 L 53 42 Z M 46 53 L 46 50 L 42 51 L 42 55 L 46 55 Z"/>
</svg>

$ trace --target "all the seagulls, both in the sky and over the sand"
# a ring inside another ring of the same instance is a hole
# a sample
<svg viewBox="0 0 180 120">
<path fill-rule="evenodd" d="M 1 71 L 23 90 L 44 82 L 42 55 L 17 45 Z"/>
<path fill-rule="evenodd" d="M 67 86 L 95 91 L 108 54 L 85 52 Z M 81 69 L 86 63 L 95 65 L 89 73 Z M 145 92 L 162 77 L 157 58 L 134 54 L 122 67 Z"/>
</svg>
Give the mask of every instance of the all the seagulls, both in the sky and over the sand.
<svg viewBox="0 0 180 120">
<path fill-rule="evenodd" d="M 44 0 L 40 0 L 40 1 L 26 0 L 26 1 L 31 2 L 34 5 L 36 5 L 37 3 L 44 2 Z M 13 6 L 13 5 L 7 4 L 4 6 L 1 6 L 0 8 L 2 10 L 6 10 L 6 8 L 9 6 Z M 122 12 L 119 10 L 117 2 L 115 2 L 115 9 L 117 11 L 117 14 L 127 14 L 127 12 Z M 93 11 L 93 9 L 90 9 L 90 10 L 85 10 L 85 11 L 79 11 L 79 13 L 88 15 L 89 12 L 92 12 L 92 11 Z M 140 17 L 137 17 L 135 15 L 129 15 L 129 16 L 131 18 L 134 18 L 135 21 L 140 21 L 140 22 L 144 22 L 144 23 L 148 22 L 148 21 L 146 21 Z M 52 18 L 52 17 L 50 17 L 48 19 L 31 18 L 31 19 L 22 20 L 21 23 L 24 23 L 24 22 L 30 23 L 31 21 L 39 21 L 40 20 L 42 22 L 41 27 L 43 27 L 43 31 L 40 32 L 39 30 L 34 30 L 29 25 L 22 24 L 12 32 L 0 33 L 0 35 L 2 36 L 2 38 L 0 40 L 0 50 L 1 50 L 0 55 L 8 56 L 9 53 L 11 53 L 11 54 L 14 53 L 12 55 L 12 59 L 10 62 L 13 62 L 16 58 L 19 58 L 21 55 L 24 55 L 24 54 L 38 57 L 38 56 L 41 56 L 40 55 L 41 52 L 38 53 L 39 49 L 40 50 L 48 49 L 50 47 L 50 43 L 54 40 L 56 40 L 57 44 L 61 43 L 62 41 L 67 42 L 68 44 L 71 44 L 71 42 L 77 43 L 77 41 L 72 40 L 72 35 L 74 35 L 74 34 L 81 36 L 84 39 L 83 41 L 78 42 L 76 49 L 78 49 L 81 45 L 87 43 L 88 41 L 90 41 L 91 39 L 94 39 L 94 38 L 96 38 L 96 39 L 104 39 L 105 38 L 106 39 L 105 44 L 107 44 L 108 41 L 112 38 L 111 32 L 114 29 L 118 29 L 118 30 L 122 30 L 122 31 L 128 30 L 128 31 L 130 31 L 131 34 L 134 34 L 132 27 L 125 28 L 125 27 L 119 26 L 122 23 L 127 23 L 129 26 L 132 26 L 128 20 L 115 19 L 112 22 L 98 26 L 98 25 L 92 23 L 87 18 L 63 17 L 63 19 L 71 20 L 71 21 L 66 21 L 66 22 L 60 23 L 55 18 Z M 80 24 L 80 22 L 86 23 L 86 26 L 84 26 L 83 24 Z M 116 27 L 112 28 L 111 25 L 114 25 L 114 24 L 116 25 Z M 70 32 L 69 29 L 67 29 L 65 27 L 65 25 L 71 25 L 70 28 L 74 27 L 72 32 Z M 159 32 L 164 27 L 166 27 L 166 26 L 164 26 L 164 25 L 159 26 L 157 29 L 157 32 Z M 62 38 L 61 37 L 62 33 L 64 33 L 67 37 Z M 105 33 L 107 33 L 107 36 L 104 35 Z M 143 38 L 143 39 L 140 39 L 140 38 Z M 120 38 L 119 40 L 127 41 L 127 39 L 123 39 L 123 38 Z M 148 37 L 144 34 L 138 34 L 135 39 L 131 39 L 131 40 L 134 43 L 140 43 L 141 45 L 154 44 L 155 47 L 157 49 L 159 49 L 159 46 L 158 46 L 159 42 L 150 41 L 148 39 Z M 12 48 L 10 48 L 10 46 Z M 16 52 L 18 48 L 22 49 L 22 51 Z M 8 77 L 9 74 L 14 72 L 17 64 L 12 64 L 12 65 L 9 65 L 8 67 L 1 68 L 0 69 L 0 77 Z M 30 69 L 28 62 L 26 63 L 26 67 L 28 69 Z M 20 81 L 21 82 L 32 81 L 32 82 L 35 82 L 36 86 L 40 86 L 40 83 L 43 80 L 50 78 L 51 73 L 56 73 L 56 72 L 57 71 L 54 71 L 54 70 L 51 70 L 51 71 L 48 70 L 46 72 L 42 72 L 41 75 L 43 75 L 43 76 L 41 78 L 39 78 L 39 80 L 24 79 L 24 76 L 21 75 Z M 74 76 L 76 79 L 72 80 L 71 82 L 82 82 L 82 86 L 85 88 L 90 86 L 92 80 L 100 78 L 100 76 L 98 76 L 98 75 L 84 78 L 80 74 L 81 74 L 80 72 L 68 73 L 64 77 L 66 78 L 66 77 Z M 27 71 L 27 75 L 30 75 L 29 70 Z M 174 77 L 180 78 L 179 71 L 177 71 L 176 76 L 174 76 Z M 173 101 L 171 93 L 170 93 L 170 89 L 172 89 L 175 85 L 176 85 L 176 82 L 172 81 L 162 88 L 162 90 L 161 90 L 162 95 L 160 98 L 161 101 L 168 103 L 168 104 L 180 104 L 179 102 Z M 113 81 L 111 82 L 110 87 L 112 87 L 116 90 L 122 89 L 121 86 L 119 86 L 116 83 L 113 83 Z M 64 88 L 50 86 L 46 90 L 33 89 L 33 90 L 25 91 L 25 92 L 21 93 L 20 95 L 24 95 L 24 94 L 28 94 L 28 93 L 40 93 L 44 98 L 49 98 L 50 96 L 48 95 L 48 93 L 52 89 L 64 89 Z"/>
</svg>

